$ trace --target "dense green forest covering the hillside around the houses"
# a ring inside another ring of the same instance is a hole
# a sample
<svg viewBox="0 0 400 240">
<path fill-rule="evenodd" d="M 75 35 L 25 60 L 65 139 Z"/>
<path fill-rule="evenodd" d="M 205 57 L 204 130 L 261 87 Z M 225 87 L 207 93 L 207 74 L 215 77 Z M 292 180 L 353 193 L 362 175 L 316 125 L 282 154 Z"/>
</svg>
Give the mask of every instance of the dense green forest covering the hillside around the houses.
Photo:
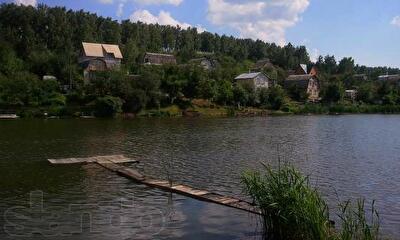
<svg viewBox="0 0 400 240">
<path fill-rule="evenodd" d="M 78 64 L 83 41 L 118 44 L 124 56 L 121 70 L 99 73 L 89 85 L 83 84 Z M 174 54 L 179 64 L 143 65 L 148 51 Z M 214 58 L 218 66 L 206 71 L 189 64 L 190 59 L 202 55 Z M 302 106 L 298 104 L 302 99 L 295 99 L 279 85 L 256 92 L 234 84 L 235 76 L 266 58 L 274 67 L 264 71 L 278 83 L 299 64 L 315 65 L 325 105 L 349 104 L 344 100 L 344 90 L 354 88 L 358 96 L 352 106 L 381 105 L 387 109 L 400 104 L 398 85 L 377 81 L 382 74 L 399 74 L 399 69 L 359 66 L 351 57 L 337 61 L 334 56 L 320 56 L 313 63 L 305 46 L 290 43 L 281 47 L 260 40 L 199 33 L 196 28 L 118 22 L 63 7 L 0 5 L 1 109 L 37 108 L 64 115 L 70 109 L 87 108 L 98 109 L 100 116 L 171 105 L 185 109 L 191 100 L 204 99 L 218 106 L 295 111 Z M 367 78 L 360 80 L 355 74 Z M 45 75 L 57 80 L 43 80 Z M 65 91 L 66 85 L 72 89 Z"/>
</svg>

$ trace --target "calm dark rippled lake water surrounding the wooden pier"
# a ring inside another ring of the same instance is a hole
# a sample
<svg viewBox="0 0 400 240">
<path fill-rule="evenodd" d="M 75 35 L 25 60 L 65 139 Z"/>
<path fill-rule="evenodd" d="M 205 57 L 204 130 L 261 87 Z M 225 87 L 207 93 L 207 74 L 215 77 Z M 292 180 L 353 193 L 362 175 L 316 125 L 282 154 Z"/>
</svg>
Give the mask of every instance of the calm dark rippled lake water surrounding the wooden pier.
<svg viewBox="0 0 400 240">
<path fill-rule="evenodd" d="M 259 239 L 251 214 L 47 158 L 125 154 L 146 175 L 244 198 L 239 176 L 291 162 L 334 206 L 377 200 L 400 237 L 400 116 L 0 121 L 0 239 Z"/>
</svg>

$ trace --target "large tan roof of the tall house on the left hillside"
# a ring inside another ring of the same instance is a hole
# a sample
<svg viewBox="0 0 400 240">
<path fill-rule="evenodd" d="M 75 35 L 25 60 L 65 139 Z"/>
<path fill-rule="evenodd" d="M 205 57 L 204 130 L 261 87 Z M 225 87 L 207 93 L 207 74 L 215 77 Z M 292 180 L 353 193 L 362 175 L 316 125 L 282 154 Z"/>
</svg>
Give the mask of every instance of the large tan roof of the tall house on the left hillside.
<svg viewBox="0 0 400 240">
<path fill-rule="evenodd" d="M 113 54 L 115 58 L 122 59 L 118 45 L 82 42 L 83 52 L 87 57 L 105 57 L 105 53 Z"/>
</svg>

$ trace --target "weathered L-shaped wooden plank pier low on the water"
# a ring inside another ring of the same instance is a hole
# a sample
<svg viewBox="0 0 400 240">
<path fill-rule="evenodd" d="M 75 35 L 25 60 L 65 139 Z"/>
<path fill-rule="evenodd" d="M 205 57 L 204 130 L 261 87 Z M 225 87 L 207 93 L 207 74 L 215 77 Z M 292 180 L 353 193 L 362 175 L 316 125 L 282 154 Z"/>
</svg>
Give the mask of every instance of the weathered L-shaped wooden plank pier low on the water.
<svg viewBox="0 0 400 240">
<path fill-rule="evenodd" d="M 212 193 L 206 190 L 195 189 L 186 185 L 171 184 L 170 182 L 165 180 L 157 180 L 145 176 L 133 168 L 119 165 L 118 163 L 137 162 L 136 160 L 131 160 L 124 157 L 123 155 L 97 156 L 89 158 L 48 159 L 48 161 L 52 164 L 96 163 L 121 176 L 127 177 L 134 180 L 135 182 L 150 187 L 184 195 L 200 201 L 216 203 L 219 205 L 243 210 L 254 214 L 261 214 L 260 210 L 257 207 L 247 201 L 243 201 L 234 197 L 224 196 L 218 193 Z"/>
</svg>

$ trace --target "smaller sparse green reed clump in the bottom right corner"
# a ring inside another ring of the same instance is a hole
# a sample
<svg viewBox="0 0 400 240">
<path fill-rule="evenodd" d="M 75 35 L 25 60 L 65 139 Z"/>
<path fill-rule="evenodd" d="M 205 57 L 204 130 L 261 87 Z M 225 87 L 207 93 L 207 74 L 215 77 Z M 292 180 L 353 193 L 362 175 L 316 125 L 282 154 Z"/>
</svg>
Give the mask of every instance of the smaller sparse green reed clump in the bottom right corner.
<svg viewBox="0 0 400 240">
<path fill-rule="evenodd" d="M 359 199 L 355 206 L 351 201 L 339 205 L 341 220 L 341 232 L 339 239 L 342 240 L 375 240 L 379 239 L 379 214 L 375 208 L 375 201 L 369 216 L 365 210 L 365 200 Z"/>
</svg>

